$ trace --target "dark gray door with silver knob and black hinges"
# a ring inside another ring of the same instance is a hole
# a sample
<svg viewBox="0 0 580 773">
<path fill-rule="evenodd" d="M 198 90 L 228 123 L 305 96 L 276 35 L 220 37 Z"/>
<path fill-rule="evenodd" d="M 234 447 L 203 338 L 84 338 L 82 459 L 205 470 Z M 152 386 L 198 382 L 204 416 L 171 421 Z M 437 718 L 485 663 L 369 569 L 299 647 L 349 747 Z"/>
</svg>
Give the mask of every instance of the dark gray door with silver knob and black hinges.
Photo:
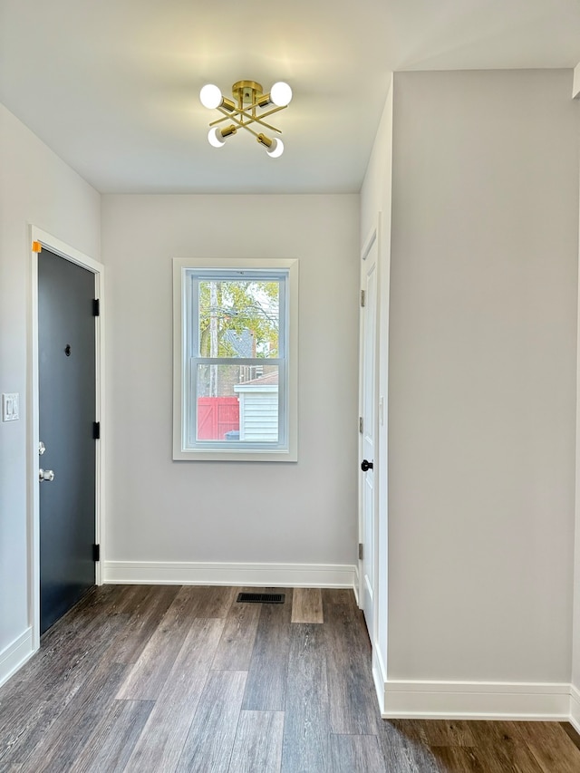
<svg viewBox="0 0 580 773">
<path fill-rule="evenodd" d="M 41 633 L 94 585 L 94 275 L 38 256 Z M 54 474 L 51 480 L 51 471 Z"/>
</svg>

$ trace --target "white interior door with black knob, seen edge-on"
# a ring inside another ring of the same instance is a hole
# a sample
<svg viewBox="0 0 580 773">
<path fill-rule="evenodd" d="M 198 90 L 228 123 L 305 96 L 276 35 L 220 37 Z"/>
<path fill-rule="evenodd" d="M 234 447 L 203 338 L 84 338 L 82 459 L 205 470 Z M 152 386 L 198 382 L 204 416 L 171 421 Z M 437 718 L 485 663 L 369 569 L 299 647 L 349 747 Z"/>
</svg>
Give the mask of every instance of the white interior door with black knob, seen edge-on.
<svg viewBox="0 0 580 773">
<path fill-rule="evenodd" d="M 361 271 L 361 433 L 359 473 L 361 602 L 371 642 L 376 603 L 376 449 L 377 449 L 377 239 L 362 253 Z"/>
</svg>

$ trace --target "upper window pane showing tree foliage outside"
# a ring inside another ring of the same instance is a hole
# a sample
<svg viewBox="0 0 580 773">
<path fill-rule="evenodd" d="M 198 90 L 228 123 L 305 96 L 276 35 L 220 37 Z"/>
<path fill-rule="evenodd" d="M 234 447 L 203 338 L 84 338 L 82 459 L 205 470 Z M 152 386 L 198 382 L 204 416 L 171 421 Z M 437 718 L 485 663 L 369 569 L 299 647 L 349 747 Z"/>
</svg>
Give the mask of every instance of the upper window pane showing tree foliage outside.
<svg viewBox="0 0 580 773">
<path fill-rule="evenodd" d="M 199 356 L 279 356 L 278 281 L 200 280 Z"/>
</svg>

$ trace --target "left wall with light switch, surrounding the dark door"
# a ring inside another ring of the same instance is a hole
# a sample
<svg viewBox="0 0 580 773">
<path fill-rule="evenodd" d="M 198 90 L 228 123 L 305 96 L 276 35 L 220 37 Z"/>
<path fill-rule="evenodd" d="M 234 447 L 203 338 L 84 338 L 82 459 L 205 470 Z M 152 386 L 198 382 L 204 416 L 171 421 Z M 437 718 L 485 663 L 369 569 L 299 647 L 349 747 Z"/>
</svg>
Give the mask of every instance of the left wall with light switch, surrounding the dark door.
<svg viewBox="0 0 580 773">
<path fill-rule="evenodd" d="M 99 257 L 100 198 L 0 105 L 0 391 L 21 419 L 0 422 L 0 679 L 3 652 L 30 625 L 26 544 L 29 226 Z M 5 662 L 7 667 L 7 661 Z"/>
</svg>

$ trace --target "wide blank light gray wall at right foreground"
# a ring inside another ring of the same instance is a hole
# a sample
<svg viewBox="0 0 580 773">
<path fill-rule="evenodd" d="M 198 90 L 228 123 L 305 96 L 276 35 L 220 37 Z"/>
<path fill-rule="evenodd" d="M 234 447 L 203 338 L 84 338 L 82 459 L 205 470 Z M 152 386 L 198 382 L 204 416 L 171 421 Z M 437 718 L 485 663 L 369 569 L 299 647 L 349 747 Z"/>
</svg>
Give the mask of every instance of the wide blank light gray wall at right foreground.
<svg viewBox="0 0 580 773">
<path fill-rule="evenodd" d="M 389 678 L 569 682 L 572 71 L 396 73 Z"/>
</svg>

